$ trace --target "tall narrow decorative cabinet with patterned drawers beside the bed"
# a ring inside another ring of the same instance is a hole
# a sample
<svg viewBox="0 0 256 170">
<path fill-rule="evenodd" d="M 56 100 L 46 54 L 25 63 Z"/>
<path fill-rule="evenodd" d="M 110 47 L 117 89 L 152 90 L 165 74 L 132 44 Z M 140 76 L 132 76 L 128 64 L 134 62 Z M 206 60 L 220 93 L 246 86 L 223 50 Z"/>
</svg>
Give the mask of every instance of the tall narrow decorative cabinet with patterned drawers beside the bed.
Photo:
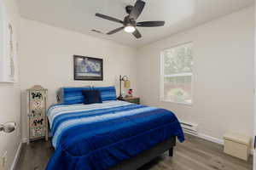
<svg viewBox="0 0 256 170">
<path fill-rule="evenodd" d="M 36 85 L 26 90 L 27 124 L 29 141 L 48 140 L 48 121 L 46 117 L 47 89 Z"/>
</svg>

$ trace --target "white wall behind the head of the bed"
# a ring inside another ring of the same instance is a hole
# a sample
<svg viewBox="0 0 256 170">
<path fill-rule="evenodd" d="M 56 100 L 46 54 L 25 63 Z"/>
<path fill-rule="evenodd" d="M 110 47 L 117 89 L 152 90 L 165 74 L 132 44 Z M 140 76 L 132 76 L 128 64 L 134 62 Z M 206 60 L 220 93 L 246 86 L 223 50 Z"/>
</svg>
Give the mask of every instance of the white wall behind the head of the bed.
<svg viewBox="0 0 256 170">
<path fill-rule="evenodd" d="M 67 86 L 119 87 L 119 75 L 131 79 L 137 92 L 136 50 L 114 42 L 21 19 L 20 88 L 23 138 L 26 138 L 25 90 L 35 84 L 49 89 L 48 105 L 55 103 L 58 88 Z M 74 81 L 73 54 L 103 58 L 104 81 Z"/>
</svg>

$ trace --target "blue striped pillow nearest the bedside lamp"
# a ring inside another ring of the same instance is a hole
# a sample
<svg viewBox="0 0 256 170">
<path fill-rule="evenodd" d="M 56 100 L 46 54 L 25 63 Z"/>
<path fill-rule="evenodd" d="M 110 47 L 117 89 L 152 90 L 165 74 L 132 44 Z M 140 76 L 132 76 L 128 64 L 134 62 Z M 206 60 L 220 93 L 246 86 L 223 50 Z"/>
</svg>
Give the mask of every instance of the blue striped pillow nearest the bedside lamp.
<svg viewBox="0 0 256 170">
<path fill-rule="evenodd" d="M 102 101 L 116 100 L 116 92 L 114 86 L 96 87 L 93 89 L 99 90 L 101 92 Z"/>
</svg>

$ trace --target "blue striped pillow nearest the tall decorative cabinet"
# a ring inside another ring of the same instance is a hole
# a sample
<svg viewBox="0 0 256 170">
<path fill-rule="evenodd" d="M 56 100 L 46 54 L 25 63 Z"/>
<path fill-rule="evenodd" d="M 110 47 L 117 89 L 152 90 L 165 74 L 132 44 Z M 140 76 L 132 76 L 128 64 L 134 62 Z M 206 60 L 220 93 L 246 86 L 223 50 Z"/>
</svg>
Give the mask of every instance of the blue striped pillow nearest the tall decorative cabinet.
<svg viewBox="0 0 256 170">
<path fill-rule="evenodd" d="M 66 105 L 84 103 L 83 90 L 90 90 L 90 87 L 84 88 L 61 88 L 61 103 Z"/>
</svg>

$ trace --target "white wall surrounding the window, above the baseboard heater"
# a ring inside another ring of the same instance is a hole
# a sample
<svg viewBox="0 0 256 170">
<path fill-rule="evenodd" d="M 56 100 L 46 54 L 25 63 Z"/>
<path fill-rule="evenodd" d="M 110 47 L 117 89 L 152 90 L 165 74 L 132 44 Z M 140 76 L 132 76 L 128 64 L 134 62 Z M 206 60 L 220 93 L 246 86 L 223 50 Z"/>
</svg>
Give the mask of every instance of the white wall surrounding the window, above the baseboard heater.
<svg viewBox="0 0 256 170">
<path fill-rule="evenodd" d="M 160 102 L 160 51 L 194 42 L 193 105 Z M 221 141 L 226 131 L 253 135 L 254 8 L 183 31 L 140 48 L 138 85 L 143 104 L 199 123 L 200 133 Z"/>
</svg>

